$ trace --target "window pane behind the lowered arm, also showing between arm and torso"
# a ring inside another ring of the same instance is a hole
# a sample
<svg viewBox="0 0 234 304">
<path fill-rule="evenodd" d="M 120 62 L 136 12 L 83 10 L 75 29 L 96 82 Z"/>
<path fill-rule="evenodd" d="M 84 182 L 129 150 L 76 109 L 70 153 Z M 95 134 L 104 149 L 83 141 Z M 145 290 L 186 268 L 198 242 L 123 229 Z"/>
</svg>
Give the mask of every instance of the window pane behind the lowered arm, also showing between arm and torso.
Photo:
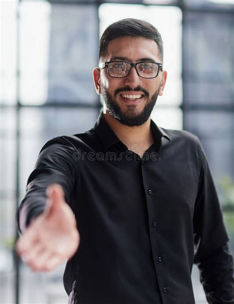
<svg viewBox="0 0 234 304">
<path fill-rule="evenodd" d="M 224 221 L 230 236 L 230 250 L 234 253 L 234 115 L 229 112 L 186 111 L 185 129 L 196 134 L 201 141 L 214 178 Z M 207 303 L 194 265 L 192 272 L 196 303 Z"/>
</svg>

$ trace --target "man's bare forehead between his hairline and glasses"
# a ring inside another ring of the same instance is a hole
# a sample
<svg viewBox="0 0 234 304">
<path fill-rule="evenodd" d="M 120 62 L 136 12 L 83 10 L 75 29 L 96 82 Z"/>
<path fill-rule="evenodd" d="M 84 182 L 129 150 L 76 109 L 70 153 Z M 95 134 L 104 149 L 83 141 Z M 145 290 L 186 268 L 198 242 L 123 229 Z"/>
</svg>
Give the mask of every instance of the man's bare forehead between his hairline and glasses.
<svg viewBox="0 0 234 304">
<path fill-rule="evenodd" d="M 132 62 L 140 61 L 142 58 L 160 60 L 158 46 L 152 39 L 144 37 L 123 36 L 109 42 L 105 54 L 105 61 L 124 57 Z M 160 61 L 159 61 L 160 62 Z"/>
</svg>

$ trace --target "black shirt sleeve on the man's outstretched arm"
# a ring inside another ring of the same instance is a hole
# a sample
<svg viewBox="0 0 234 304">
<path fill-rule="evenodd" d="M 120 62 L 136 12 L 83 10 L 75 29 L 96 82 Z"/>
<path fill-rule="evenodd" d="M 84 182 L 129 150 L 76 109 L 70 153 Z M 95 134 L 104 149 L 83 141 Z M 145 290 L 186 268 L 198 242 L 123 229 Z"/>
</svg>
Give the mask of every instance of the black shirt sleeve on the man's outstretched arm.
<svg viewBox="0 0 234 304">
<path fill-rule="evenodd" d="M 77 179 L 76 154 L 75 146 L 65 137 L 54 138 L 43 146 L 28 178 L 26 195 L 18 208 L 17 224 L 20 232 L 43 212 L 46 204 L 45 191 L 50 184 L 62 186 L 65 200 L 72 207 L 73 189 Z"/>
</svg>

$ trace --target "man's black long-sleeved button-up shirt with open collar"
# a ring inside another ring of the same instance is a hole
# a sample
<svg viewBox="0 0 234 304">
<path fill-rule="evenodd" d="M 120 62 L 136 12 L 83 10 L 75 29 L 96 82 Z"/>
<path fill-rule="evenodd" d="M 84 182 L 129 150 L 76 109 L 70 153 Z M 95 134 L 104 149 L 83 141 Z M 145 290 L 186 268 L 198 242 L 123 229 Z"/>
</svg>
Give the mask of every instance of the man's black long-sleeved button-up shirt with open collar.
<svg viewBox="0 0 234 304">
<path fill-rule="evenodd" d="M 89 131 L 42 148 L 19 208 L 19 225 L 43 211 L 59 183 L 80 233 L 65 289 L 74 304 L 193 304 L 197 263 L 207 300 L 233 304 L 232 255 L 197 137 L 151 120 L 154 144 L 129 151 L 102 113 Z"/>
</svg>

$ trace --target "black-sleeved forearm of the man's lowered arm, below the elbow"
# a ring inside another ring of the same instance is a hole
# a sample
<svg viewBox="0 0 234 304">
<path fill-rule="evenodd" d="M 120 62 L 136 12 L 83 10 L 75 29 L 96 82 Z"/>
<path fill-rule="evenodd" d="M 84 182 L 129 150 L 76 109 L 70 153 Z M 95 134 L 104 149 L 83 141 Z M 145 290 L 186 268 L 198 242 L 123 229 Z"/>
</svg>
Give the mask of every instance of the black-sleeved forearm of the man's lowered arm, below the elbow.
<svg viewBox="0 0 234 304">
<path fill-rule="evenodd" d="M 228 244 L 195 260 L 209 304 L 234 304 L 233 256 Z"/>
</svg>

